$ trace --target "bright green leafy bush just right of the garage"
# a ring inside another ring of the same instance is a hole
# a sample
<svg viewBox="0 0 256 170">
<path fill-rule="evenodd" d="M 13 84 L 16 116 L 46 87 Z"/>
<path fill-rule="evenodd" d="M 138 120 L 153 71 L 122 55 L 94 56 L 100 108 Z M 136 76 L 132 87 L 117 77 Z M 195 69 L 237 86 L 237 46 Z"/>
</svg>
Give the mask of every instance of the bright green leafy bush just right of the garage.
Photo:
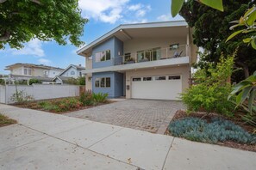
<svg viewBox="0 0 256 170">
<path fill-rule="evenodd" d="M 197 70 L 194 78 L 197 85 L 188 88 L 181 99 L 188 106 L 188 111 L 218 112 L 227 116 L 233 115 L 234 105 L 228 101 L 231 85 L 228 78 L 232 74 L 234 58 L 221 58 L 220 63 L 209 69 Z"/>
</svg>

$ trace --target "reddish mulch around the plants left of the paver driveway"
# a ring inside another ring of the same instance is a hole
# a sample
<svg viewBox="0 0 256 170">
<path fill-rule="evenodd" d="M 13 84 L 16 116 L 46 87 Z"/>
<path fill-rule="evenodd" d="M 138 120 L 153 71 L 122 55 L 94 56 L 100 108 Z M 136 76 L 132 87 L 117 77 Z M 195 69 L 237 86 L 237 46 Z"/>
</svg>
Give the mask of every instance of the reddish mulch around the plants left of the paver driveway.
<svg viewBox="0 0 256 170">
<path fill-rule="evenodd" d="M 63 98 L 53 99 L 53 100 L 61 100 L 61 99 L 63 99 Z M 66 112 L 54 112 L 54 111 L 48 111 L 48 110 L 42 109 L 41 106 L 38 105 L 38 102 L 40 102 L 40 101 L 51 101 L 51 100 L 29 101 L 29 102 L 24 103 L 24 104 L 11 104 L 11 106 L 18 106 L 18 107 L 22 107 L 22 108 L 34 109 L 34 110 L 44 111 L 44 112 L 53 112 L 55 114 L 65 114 L 65 113 L 68 113 L 68 112 L 75 112 L 75 111 L 84 110 L 84 109 L 88 109 L 88 108 L 95 107 L 95 106 L 102 106 L 102 105 L 107 105 L 107 104 L 116 102 L 116 101 L 112 101 L 112 100 L 107 100 L 107 102 L 98 103 L 97 105 L 80 106 L 79 108 L 72 108 L 71 110 L 66 111 Z"/>
</svg>

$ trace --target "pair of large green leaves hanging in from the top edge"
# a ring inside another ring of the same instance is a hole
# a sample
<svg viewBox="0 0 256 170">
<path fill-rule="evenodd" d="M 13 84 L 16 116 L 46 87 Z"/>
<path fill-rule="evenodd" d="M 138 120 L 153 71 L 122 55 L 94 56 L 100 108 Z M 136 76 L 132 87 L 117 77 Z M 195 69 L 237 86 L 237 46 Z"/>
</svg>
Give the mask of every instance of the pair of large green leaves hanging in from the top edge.
<svg viewBox="0 0 256 170">
<path fill-rule="evenodd" d="M 222 0 L 199 0 L 198 2 L 203 3 L 213 9 L 218 9 L 223 11 L 223 4 L 222 4 Z M 172 17 L 178 15 L 178 12 L 180 11 L 180 9 L 182 8 L 182 5 L 184 3 L 184 0 L 172 0 L 172 7 L 171 7 L 171 11 L 172 11 Z"/>
</svg>

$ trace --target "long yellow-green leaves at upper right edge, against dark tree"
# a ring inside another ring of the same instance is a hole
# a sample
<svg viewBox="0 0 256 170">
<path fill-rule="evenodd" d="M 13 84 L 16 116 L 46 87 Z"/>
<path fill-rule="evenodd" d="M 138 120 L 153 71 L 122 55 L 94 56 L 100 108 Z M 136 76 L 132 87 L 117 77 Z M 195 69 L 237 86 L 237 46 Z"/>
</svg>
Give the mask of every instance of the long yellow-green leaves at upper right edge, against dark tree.
<svg viewBox="0 0 256 170">
<path fill-rule="evenodd" d="M 234 23 L 237 23 L 237 24 L 230 27 L 230 29 L 234 29 L 235 27 L 241 27 L 241 26 L 246 27 L 246 28 L 238 30 L 238 31 L 232 33 L 231 35 L 229 35 L 226 42 L 228 42 L 228 40 L 230 40 L 230 39 L 233 39 L 239 33 L 253 33 L 253 32 L 255 32 L 256 28 L 253 27 L 256 24 L 255 21 L 256 21 L 256 7 L 255 7 L 255 5 L 253 5 L 253 7 L 251 9 L 247 10 L 245 15 L 240 17 L 240 20 L 233 21 Z M 256 36 L 255 36 L 255 33 L 254 33 L 253 36 L 249 36 L 247 38 L 244 38 L 243 42 L 247 43 L 247 44 L 251 44 L 251 46 L 256 50 Z"/>
</svg>

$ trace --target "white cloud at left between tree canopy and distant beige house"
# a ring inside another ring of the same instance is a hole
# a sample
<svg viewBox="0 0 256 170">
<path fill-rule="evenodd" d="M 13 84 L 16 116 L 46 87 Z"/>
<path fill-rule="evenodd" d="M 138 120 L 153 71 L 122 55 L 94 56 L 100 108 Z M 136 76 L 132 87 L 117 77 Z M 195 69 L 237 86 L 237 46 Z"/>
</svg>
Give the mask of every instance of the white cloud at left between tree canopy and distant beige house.
<svg viewBox="0 0 256 170">
<path fill-rule="evenodd" d="M 13 55 L 33 55 L 37 57 L 45 56 L 45 52 L 42 49 L 42 41 L 39 39 L 32 39 L 24 45 L 21 50 L 10 49 Z"/>
</svg>

